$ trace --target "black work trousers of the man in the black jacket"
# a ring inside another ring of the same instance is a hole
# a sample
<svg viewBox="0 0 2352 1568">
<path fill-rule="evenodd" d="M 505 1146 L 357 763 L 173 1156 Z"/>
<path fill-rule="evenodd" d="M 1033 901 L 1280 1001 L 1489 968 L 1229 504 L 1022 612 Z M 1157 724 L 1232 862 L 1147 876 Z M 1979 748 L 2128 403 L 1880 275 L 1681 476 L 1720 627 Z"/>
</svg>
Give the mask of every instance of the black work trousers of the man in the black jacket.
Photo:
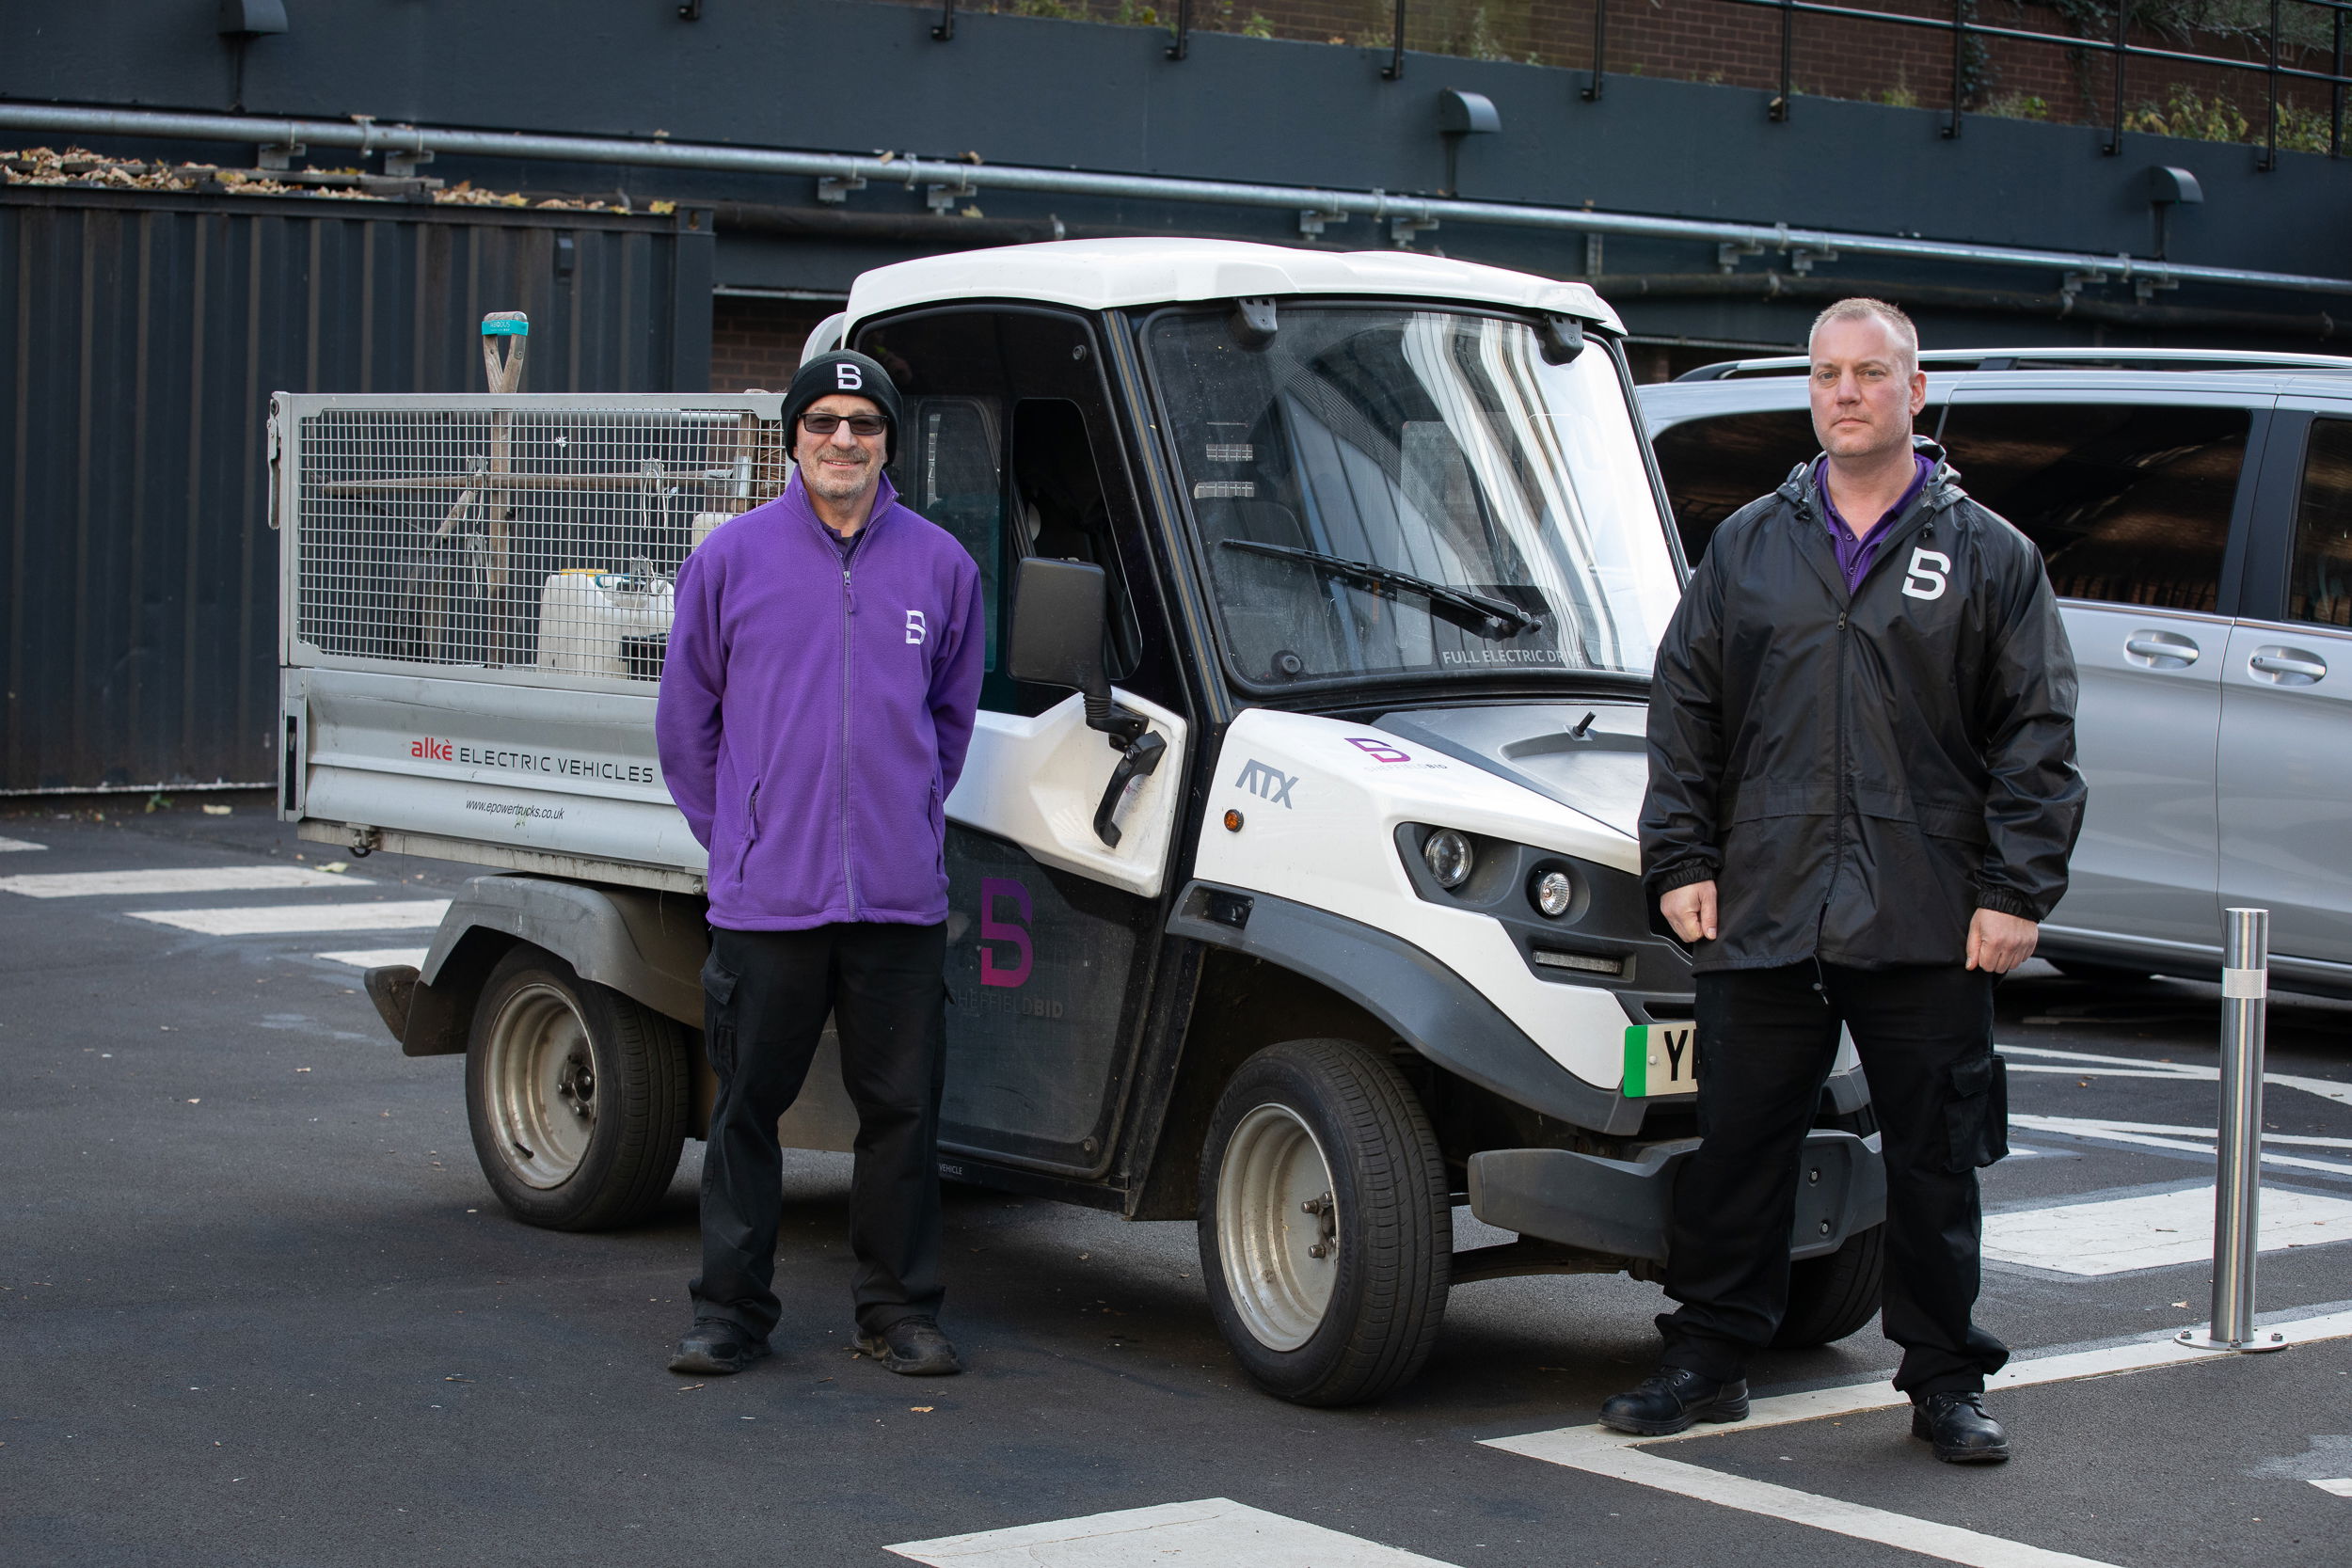
<svg viewBox="0 0 2352 1568">
<path fill-rule="evenodd" d="M 1788 1309 L 1804 1135 L 1853 1032 L 1886 1150 L 1879 1324 L 1912 1399 L 1983 1389 L 2009 1347 L 1971 1321 L 1983 1211 L 1976 1168 L 2006 1152 L 1992 985 L 1959 964 L 1792 964 L 1698 976 L 1700 1150 L 1675 1180 L 1665 1366 L 1745 1375 Z"/>
</svg>

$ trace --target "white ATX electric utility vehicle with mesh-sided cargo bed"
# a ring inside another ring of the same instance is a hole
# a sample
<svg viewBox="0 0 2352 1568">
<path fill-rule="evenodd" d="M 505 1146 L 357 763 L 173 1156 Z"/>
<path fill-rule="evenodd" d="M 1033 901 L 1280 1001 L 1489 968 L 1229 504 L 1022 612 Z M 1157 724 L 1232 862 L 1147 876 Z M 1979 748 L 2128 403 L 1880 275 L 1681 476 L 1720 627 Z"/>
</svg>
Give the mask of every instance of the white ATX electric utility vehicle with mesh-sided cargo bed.
<svg viewBox="0 0 2352 1568">
<path fill-rule="evenodd" d="M 1635 820 L 1684 567 L 1621 331 L 1461 261 L 1124 240 L 880 268 L 811 339 L 891 369 L 896 484 L 988 597 L 941 1173 L 1197 1220 L 1284 1399 L 1399 1385 L 1454 1284 L 1668 1251 L 1708 1041 Z M 466 1056 L 534 1225 L 642 1215 L 703 1131 L 654 693 L 677 564 L 786 480 L 779 404 L 275 402 L 282 813 L 494 867 L 369 994 Z M 830 1063 L 781 1131 L 849 1147 Z M 1804 1168 L 1792 1345 L 1877 1309 L 1851 1053 Z M 1456 1253 L 1458 1204 L 1517 1241 Z"/>
</svg>

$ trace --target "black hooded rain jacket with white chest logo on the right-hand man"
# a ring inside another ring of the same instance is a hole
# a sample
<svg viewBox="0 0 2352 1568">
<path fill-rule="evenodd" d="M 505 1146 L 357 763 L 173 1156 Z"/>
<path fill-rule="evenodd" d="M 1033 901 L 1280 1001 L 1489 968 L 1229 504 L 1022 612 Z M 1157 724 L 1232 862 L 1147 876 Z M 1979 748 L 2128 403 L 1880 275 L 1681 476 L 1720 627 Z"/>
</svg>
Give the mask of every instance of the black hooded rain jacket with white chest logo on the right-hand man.
<svg viewBox="0 0 2352 1568">
<path fill-rule="evenodd" d="M 1649 896 L 1715 879 L 1691 969 L 1962 964 L 2044 919 L 2082 830 L 2074 651 L 2032 541 L 1943 449 L 1846 592 L 1809 461 L 1733 512 L 1649 705 Z"/>
</svg>

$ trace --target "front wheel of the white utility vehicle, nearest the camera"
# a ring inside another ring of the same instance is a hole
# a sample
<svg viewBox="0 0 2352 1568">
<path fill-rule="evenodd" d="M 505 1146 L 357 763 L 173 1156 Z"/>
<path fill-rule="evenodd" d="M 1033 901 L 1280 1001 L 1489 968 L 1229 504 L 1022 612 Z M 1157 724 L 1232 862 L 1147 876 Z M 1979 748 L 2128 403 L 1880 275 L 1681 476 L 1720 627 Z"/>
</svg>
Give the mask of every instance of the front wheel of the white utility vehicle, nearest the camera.
<svg viewBox="0 0 2352 1568">
<path fill-rule="evenodd" d="M 1200 1267 L 1242 1371 L 1282 1399 L 1388 1394 L 1437 1342 L 1454 1208 L 1404 1074 L 1345 1039 L 1258 1051 L 1200 1161 Z"/>
</svg>

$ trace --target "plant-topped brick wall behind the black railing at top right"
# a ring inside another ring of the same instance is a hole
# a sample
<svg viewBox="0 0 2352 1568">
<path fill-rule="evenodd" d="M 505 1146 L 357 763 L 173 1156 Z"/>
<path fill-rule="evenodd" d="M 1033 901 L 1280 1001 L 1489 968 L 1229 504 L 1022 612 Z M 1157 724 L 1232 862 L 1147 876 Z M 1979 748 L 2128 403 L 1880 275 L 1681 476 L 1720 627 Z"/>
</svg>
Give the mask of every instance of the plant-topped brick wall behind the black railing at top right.
<svg viewBox="0 0 2352 1568">
<path fill-rule="evenodd" d="M 931 0 L 903 0 L 931 2 Z M 1538 66 L 1592 66 L 1595 0 L 1406 0 L 1406 47 L 1475 59 L 1517 59 Z M 1955 0 L 1846 0 L 1889 14 L 1952 16 Z M 1973 21 L 2030 33 L 2077 35 L 2056 5 L 2037 0 L 1966 0 Z M 1129 26 L 1167 26 L 1174 0 L 1157 7 L 1136 0 L 960 0 L 962 9 L 997 9 L 1023 16 L 1065 16 Z M 2112 0 L 2110 0 L 2112 5 Z M 2281 66 L 2326 71 L 2321 12 L 2288 5 L 2288 47 Z M 1385 47 L 1395 7 L 1388 0 L 1195 0 L 1192 26 L 1204 33 L 1256 33 L 1329 45 Z M 2096 28 L 2110 38 L 2110 26 Z M 2300 40 L 2300 42 L 2296 42 Z M 2136 26 L 2131 42 L 2190 54 L 2218 54 L 2258 63 L 2265 42 L 2234 33 L 2157 33 Z M 1863 99 L 1917 108 L 1952 103 L 1950 33 L 1844 16 L 1797 16 L 1792 80 L 1799 96 Z M 2105 54 L 2009 38 L 1973 38 L 1969 87 L 1962 106 L 2032 120 L 2098 125 L 2112 115 L 2114 63 Z M 1733 0 L 1618 0 L 1609 9 L 1606 68 L 1611 75 L 1658 75 L 1729 87 L 1780 85 L 1780 14 Z M 2244 118 L 2209 122 L 2201 139 L 2263 139 L 2265 80 L 2260 71 L 2230 71 L 2183 61 L 2133 59 L 2126 68 L 2124 103 L 2136 129 L 2154 129 L 2147 110 L 2173 118 L 2183 94 L 2211 106 L 2225 99 Z M 2296 120 L 2281 143 L 2324 150 L 2328 89 L 2319 82 L 2281 80 L 2279 101 Z M 2176 127 L 2176 134 L 2180 129 Z M 2317 139 L 2317 146 L 2314 146 Z"/>
</svg>

